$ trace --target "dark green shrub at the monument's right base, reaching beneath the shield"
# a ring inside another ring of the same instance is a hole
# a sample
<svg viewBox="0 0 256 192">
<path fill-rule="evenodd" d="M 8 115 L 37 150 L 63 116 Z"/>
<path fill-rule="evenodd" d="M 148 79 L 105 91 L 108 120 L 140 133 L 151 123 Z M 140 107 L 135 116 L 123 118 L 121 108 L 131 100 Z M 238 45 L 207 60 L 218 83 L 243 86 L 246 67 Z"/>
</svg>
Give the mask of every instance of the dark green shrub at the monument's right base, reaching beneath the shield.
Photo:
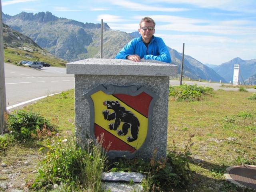
<svg viewBox="0 0 256 192">
<path fill-rule="evenodd" d="M 189 148 L 192 146 L 191 135 L 183 152 L 176 152 L 174 143 L 174 150 L 168 151 L 166 158 L 155 160 L 156 150 L 150 162 L 141 158 L 134 158 L 132 160 L 116 159 L 110 161 L 108 171 L 121 172 L 141 172 L 147 175 L 142 186 L 144 191 L 170 191 L 172 187 L 184 187 L 191 180 L 189 158 Z"/>
</svg>

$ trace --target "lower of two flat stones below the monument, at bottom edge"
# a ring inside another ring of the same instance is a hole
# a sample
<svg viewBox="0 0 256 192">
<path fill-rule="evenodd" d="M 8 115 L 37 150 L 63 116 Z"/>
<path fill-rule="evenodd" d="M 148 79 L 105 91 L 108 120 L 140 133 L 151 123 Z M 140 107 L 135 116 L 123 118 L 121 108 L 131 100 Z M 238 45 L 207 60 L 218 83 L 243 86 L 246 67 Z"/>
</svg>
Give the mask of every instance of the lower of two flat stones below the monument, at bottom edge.
<svg viewBox="0 0 256 192">
<path fill-rule="evenodd" d="M 142 192 L 143 187 L 140 184 L 124 184 L 120 182 L 103 182 L 102 189 L 111 192 Z"/>
</svg>

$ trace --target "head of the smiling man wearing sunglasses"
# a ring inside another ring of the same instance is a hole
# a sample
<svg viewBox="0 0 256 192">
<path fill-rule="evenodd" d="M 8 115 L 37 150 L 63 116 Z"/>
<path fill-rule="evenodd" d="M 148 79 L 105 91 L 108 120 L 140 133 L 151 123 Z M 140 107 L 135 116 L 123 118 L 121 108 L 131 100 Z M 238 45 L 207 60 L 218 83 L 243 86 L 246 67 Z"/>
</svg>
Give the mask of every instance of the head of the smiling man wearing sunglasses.
<svg viewBox="0 0 256 192">
<path fill-rule="evenodd" d="M 141 34 L 142 40 L 145 43 L 150 42 L 152 36 L 154 35 L 155 25 L 156 23 L 150 17 L 144 17 L 142 20 L 140 20 L 139 33 Z"/>
</svg>

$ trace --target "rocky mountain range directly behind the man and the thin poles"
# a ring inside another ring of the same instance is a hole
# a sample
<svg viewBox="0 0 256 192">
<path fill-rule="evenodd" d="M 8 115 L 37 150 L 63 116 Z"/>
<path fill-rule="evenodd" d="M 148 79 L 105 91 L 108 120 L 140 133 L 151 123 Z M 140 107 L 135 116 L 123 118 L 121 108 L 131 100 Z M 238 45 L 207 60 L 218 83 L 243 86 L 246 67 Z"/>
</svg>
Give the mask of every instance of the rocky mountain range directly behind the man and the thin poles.
<svg viewBox="0 0 256 192">
<path fill-rule="evenodd" d="M 15 16 L 2 13 L 2 20 L 12 29 L 28 36 L 51 54 L 68 61 L 100 58 L 100 24 L 82 23 L 67 18 L 58 18 L 51 12 L 37 14 L 21 12 Z M 138 32 L 126 33 L 112 30 L 104 23 L 103 58 L 114 58 L 122 47 L 140 36 Z M 182 53 L 168 47 L 172 64 L 179 66 Z M 184 55 L 183 74 L 192 79 L 227 82 L 212 68 L 191 56 Z"/>
</svg>

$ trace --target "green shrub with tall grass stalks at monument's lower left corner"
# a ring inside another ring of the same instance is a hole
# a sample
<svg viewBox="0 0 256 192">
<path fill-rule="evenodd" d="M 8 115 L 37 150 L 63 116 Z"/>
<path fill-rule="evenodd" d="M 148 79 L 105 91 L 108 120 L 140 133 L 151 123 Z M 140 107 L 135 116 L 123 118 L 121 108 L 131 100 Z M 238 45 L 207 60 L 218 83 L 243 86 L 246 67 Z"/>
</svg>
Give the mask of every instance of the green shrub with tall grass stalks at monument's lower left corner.
<svg viewBox="0 0 256 192">
<path fill-rule="evenodd" d="M 86 150 L 77 146 L 74 137 L 48 141 L 47 154 L 40 162 L 38 178 L 33 188 L 44 188 L 54 184 L 66 185 L 69 191 L 83 188 L 88 191 L 100 191 L 101 173 L 106 156 L 101 144 L 88 144 Z M 44 150 L 44 148 L 40 148 Z M 66 187 L 67 188 L 67 187 Z"/>
</svg>

